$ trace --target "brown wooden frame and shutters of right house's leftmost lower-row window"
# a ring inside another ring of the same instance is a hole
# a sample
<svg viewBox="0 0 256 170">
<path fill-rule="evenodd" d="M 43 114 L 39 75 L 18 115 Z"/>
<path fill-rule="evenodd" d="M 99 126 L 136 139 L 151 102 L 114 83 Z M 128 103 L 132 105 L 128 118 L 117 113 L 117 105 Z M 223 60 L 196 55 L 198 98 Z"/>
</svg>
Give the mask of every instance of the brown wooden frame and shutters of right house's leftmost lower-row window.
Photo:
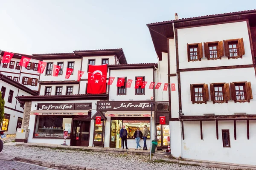
<svg viewBox="0 0 256 170">
<path fill-rule="evenodd" d="M 195 101 L 195 88 L 196 87 L 202 87 L 203 88 L 203 101 Z M 209 100 L 209 88 L 207 84 L 190 84 L 190 97 L 193 104 L 207 104 L 207 101 Z"/>
</svg>

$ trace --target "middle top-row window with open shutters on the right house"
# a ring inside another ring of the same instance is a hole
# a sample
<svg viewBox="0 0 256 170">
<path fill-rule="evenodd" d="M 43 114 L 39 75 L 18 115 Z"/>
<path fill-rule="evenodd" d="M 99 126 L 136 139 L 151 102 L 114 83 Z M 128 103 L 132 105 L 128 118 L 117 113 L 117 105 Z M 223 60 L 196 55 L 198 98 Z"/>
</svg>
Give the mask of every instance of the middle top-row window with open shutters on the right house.
<svg viewBox="0 0 256 170">
<path fill-rule="evenodd" d="M 221 59 L 224 56 L 223 42 L 204 42 L 204 55 L 210 59 Z"/>
</svg>

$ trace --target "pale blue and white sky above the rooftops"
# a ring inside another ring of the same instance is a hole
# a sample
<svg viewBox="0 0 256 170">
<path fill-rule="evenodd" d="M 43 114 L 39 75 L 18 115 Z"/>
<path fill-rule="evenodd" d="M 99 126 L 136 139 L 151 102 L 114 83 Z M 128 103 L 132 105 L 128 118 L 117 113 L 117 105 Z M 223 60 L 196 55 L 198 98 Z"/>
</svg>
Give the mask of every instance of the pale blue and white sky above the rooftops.
<svg viewBox="0 0 256 170">
<path fill-rule="evenodd" d="M 256 0 L 0 0 L 0 50 L 21 54 L 122 48 L 157 62 L 146 24 L 244 11 Z"/>
</svg>

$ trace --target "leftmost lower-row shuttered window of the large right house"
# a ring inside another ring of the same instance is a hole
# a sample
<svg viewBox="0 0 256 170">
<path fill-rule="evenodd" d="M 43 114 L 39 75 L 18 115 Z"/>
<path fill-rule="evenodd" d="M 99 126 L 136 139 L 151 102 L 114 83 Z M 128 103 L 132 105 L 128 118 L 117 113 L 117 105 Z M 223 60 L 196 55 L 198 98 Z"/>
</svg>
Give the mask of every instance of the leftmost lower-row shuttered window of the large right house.
<svg viewBox="0 0 256 170">
<path fill-rule="evenodd" d="M 209 100 L 209 91 L 207 84 L 190 85 L 191 101 L 195 103 L 207 103 Z"/>
</svg>

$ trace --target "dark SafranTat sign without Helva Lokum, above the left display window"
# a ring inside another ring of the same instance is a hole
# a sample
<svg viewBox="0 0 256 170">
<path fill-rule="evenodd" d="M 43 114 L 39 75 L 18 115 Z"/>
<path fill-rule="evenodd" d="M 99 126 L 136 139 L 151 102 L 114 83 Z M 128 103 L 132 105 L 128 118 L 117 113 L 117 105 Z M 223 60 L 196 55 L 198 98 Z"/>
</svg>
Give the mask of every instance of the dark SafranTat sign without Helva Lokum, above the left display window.
<svg viewBox="0 0 256 170">
<path fill-rule="evenodd" d="M 92 103 L 38 103 L 38 110 L 90 110 Z"/>
</svg>

